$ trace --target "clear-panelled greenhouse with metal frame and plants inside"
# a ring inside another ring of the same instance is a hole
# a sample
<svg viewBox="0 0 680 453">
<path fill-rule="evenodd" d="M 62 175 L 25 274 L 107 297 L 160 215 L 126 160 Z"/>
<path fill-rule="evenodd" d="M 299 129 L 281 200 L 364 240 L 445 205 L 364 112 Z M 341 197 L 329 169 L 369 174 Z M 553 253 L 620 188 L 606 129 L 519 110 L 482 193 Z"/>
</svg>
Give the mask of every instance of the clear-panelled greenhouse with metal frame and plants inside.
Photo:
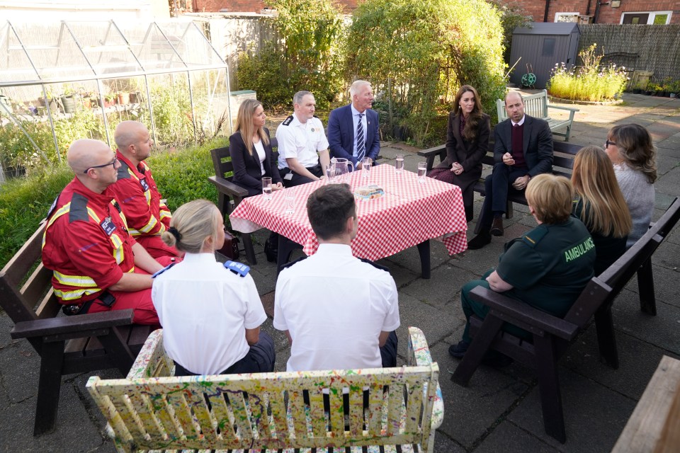
<svg viewBox="0 0 680 453">
<path fill-rule="evenodd" d="M 173 147 L 229 134 L 231 118 L 227 66 L 196 23 L 0 23 L 0 181 L 74 139 L 113 146 L 123 120 Z"/>
</svg>

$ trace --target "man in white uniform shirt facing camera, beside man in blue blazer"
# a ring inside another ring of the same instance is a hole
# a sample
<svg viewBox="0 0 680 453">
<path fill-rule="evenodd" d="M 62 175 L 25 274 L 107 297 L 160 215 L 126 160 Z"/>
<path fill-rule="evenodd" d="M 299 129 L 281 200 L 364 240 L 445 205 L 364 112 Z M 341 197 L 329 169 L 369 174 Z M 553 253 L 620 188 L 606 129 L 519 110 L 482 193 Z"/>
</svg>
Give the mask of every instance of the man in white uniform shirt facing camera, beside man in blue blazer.
<svg viewBox="0 0 680 453">
<path fill-rule="evenodd" d="M 314 116 L 316 101 L 309 91 L 293 96 L 293 115 L 276 129 L 278 170 L 285 187 L 319 180 L 329 164 L 324 125 Z"/>
</svg>

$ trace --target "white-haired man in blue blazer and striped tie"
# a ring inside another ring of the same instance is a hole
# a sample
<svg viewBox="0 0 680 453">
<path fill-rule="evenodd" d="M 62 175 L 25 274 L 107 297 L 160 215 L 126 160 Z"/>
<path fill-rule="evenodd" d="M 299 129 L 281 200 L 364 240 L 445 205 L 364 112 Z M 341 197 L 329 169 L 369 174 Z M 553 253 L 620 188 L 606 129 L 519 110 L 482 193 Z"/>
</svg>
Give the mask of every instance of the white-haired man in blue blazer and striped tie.
<svg viewBox="0 0 680 453">
<path fill-rule="evenodd" d="M 328 143 L 331 157 L 348 159 L 358 169 L 364 157 L 378 159 L 378 113 L 371 110 L 373 91 L 367 81 L 354 81 L 349 93 L 352 103 L 332 110 L 328 118 Z"/>
</svg>

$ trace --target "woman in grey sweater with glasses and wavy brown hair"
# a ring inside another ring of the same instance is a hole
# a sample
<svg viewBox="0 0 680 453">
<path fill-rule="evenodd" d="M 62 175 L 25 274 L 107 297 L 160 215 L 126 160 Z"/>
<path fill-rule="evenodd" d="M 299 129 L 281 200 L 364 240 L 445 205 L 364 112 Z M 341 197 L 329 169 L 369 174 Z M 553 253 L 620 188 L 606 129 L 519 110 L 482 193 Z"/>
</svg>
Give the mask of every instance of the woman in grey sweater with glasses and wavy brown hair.
<svg viewBox="0 0 680 453">
<path fill-rule="evenodd" d="M 633 217 L 633 230 L 626 242 L 626 247 L 630 247 L 645 234 L 652 221 L 656 149 L 645 127 L 630 124 L 609 130 L 605 150 L 614 164 L 616 180 Z"/>
</svg>

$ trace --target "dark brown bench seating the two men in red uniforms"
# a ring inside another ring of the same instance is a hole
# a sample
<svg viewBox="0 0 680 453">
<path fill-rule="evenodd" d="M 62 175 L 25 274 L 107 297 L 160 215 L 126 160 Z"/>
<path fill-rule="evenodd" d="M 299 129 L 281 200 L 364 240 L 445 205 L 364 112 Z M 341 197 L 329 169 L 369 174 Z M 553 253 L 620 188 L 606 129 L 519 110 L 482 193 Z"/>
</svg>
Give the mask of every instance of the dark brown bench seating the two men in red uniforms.
<svg viewBox="0 0 680 453">
<path fill-rule="evenodd" d="M 62 375 L 118 368 L 125 376 L 151 332 L 132 325 L 132 310 L 58 316 L 52 271 L 40 262 L 43 229 L 0 271 L 0 306 L 15 324 L 11 337 L 28 339 L 40 355 L 33 435 L 55 428 Z"/>
</svg>

